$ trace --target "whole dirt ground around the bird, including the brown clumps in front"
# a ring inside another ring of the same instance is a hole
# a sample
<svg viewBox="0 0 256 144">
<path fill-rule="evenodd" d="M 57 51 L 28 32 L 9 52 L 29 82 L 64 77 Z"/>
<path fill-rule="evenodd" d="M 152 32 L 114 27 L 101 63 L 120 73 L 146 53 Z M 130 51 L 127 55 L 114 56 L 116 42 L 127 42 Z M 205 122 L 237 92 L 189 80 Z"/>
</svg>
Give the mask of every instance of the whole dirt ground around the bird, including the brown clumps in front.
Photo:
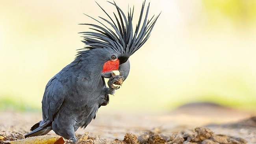
<svg viewBox="0 0 256 144">
<path fill-rule="evenodd" d="M 168 113 L 99 111 L 96 119 L 86 129 L 78 129 L 76 135 L 79 137 L 89 131 L 89 142 L 96 144 L 256 144 L 254 116 L 255 111 L 240 111 L 212 103 L 191 103 Z M 0 135 L 8 136 L 28 133 L 30 127 L 41 120 L 41 113 L 1 111 L 0 117 Z M 55 133 L 50 131 L 49 135 Z M 132 138 L 136 140 L 131 141 Z M 182 140 L 175 142 L 178 138 Z"/>
</svg>

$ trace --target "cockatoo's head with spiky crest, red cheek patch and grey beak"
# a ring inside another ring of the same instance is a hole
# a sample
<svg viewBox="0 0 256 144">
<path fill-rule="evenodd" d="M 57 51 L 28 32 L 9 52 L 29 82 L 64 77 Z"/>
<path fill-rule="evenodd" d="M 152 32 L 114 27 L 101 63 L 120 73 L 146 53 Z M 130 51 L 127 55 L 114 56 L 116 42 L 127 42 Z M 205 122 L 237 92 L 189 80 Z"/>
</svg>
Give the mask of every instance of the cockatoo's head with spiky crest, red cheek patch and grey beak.
<svg viewBox="0 0 256 144">
<path fill-rule="evenodd" d="M 119 70 L 121 76 L 126 79 L 130 71 L 129 57 L 148 40 L 159 15 L 148 18 L 150 4 L 148 4 L 145 10 L 145 2 L 143 2 L 139 20 L 134 29 L 132 24 L 134 7 L 128 8 L 128 15 L 126 16 L 115 2 L 109 3 L 117 9 L 117 13 L 113 13 L 113 17 L 110 17 L 98 3 L 98 6 L 106 13 L 108 19 L 99 17 L 100 21 L 87 15 L 98 22 L 98 25 L 84 24 L 91 26 L 90 29 L 93 31 L 81 32 L 84 38 L 82 42 L 86 46 L 80 49 L 82 51 L 78 55 L 82 54 L 84 49 L 93 50 L 103 48 L 106 59 L 102 76 L 104 78 L 110 78 L 113 70 Z"/>
</svg>

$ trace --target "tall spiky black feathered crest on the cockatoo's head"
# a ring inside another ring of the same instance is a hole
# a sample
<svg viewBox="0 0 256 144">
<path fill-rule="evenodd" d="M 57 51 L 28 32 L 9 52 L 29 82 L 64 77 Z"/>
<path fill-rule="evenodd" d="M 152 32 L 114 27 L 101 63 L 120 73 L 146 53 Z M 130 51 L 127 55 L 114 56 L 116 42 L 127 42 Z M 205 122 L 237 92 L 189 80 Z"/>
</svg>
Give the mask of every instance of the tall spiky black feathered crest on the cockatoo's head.
<svg viewBox="0 0 256 144">
<path fill-rule="evenodd" d="M 107 22 L 111 28 L 99 20 L 87 15 L 93 20 L 96 20 L 101 26 L 96 24 L 84 24 L 91 26 L 90 29 L 94 30 L 90 32 L 81 32 L 84 38 L 84 41 L 82 42 L 86 44 L 84 49 L 112 48 L 120 54 L 128 54 L 130 56 L 148 40 L 160 14 L 157 17 L 153 16 L 152 18 L 148 19 L 148 11 L 150 6 L 150 4 L 148 4 L 147 11 L 143 19 L 143 12 L 145 11 L 144 1 L 141 7 L 139 21 L 134 31 L 132 24 L 134 7 L 128 8 L 128 16 L 126 17 L 124 12 L 120 9 L 120 7 L 117 6 L 115 2 L 109 3 L 113 4 L 117 9 L 117 14 L 113 12 L 114 18 L 111 18 L 109 14 L 96 2 L 102 11 L 106 13 L 109 20 L 103 17 L 99 18 L 104 22 Z M 116 22 L 113 19 L 115 19 Z"/>
</svg>

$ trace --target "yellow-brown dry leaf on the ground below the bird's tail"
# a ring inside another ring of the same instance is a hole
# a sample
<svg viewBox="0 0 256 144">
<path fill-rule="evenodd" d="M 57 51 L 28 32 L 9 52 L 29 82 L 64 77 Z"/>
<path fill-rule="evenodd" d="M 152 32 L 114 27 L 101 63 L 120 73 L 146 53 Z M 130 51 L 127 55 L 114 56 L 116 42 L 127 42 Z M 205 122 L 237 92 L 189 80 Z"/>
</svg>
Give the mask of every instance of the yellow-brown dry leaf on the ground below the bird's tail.
<svg viewBox="0 0 256 144">
<path fill-rule="evenodd" d="M 22 140 L 8 141 L 7 144 L 64 144 L 62 137 L 53 135 L 41 135 L 29 137 Z"/>
</svg>

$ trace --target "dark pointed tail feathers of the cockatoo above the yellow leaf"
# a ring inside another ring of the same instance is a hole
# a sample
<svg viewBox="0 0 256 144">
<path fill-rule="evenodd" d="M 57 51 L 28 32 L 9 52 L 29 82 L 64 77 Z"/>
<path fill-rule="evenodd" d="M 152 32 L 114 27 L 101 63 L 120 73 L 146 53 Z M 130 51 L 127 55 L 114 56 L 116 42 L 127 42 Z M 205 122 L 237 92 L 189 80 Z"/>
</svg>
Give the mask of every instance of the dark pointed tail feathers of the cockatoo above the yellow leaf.
<svg viewBox="0 0 256 144">
<path fill-rule="evenodd" d="M 30 130 L 31 130 L 30 133 L 27 133 L 26 135 L 24 135 L 25 138 L 45 135 L 46 133 L 49 133 L 49 131 L 52 130 L 52 123 L 47 124 L 45 126 L 45 122 L 40 121 L 34 124 L 34 126 L 32 126 Z"/>
</svg>

